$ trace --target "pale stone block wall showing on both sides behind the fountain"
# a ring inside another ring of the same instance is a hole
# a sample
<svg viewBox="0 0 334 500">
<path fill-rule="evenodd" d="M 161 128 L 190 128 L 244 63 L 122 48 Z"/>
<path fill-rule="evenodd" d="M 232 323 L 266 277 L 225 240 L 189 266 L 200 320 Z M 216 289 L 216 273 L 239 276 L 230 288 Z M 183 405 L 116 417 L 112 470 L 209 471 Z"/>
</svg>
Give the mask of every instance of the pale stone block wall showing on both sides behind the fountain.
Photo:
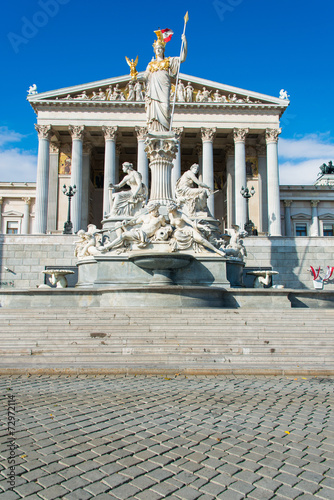
<svg viewBox="0 0 334 500">
<path fill-rule="evenodd" d="M 75 235 L 0 235 L 0 288 L 36 288 L 44 283 L 42 271 L 46 267 L 75 266 L 73 255 Z M 310 266 L 334 266 L 334 239 L 331 237 L 245 238 L 248 256 L 247 268 L 272 268 L 280 274 L 274 284 L 286 288 L 313 289 Z M 6 268 L 13 271 L 7 271 Z M 321 273 L 324 275 L 324 272 Z M 325 285 L 334 290 L 334 283 Z"/>
</svg>

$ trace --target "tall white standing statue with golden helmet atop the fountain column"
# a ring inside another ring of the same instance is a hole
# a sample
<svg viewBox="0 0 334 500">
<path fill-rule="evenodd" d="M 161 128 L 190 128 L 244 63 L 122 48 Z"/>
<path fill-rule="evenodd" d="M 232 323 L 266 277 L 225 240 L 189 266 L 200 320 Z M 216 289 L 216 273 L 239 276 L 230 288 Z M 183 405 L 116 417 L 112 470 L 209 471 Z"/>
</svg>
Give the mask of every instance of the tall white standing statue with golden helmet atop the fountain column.
<svg viewBox="0 0 334 500">
<path fill-rule="evenodd" d="M 157 39 L 153 44 L 155 59 L 151 61 L 144 73 L 146 82 L 145 109 L 147 126 L 150 132 L 166 132 L 170 130 L 171 78 L 178 75 L 181 62 L 187 57 L 187 40 L 182 35 L 180 57 L 165 58 L 166 42 L 161 30 L 155 31 Z"/>
</svg>

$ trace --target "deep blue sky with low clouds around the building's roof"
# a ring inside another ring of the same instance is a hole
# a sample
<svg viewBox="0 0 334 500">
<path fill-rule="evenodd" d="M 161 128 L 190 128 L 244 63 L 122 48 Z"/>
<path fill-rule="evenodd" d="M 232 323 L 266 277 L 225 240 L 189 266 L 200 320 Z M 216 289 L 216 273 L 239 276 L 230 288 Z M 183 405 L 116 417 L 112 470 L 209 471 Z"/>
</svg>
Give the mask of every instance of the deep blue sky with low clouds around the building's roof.
<svg viewBox="0 0 334 500">
<path fill-rule="evenodd" d="M 174 37 L 187 25 L 182 72 L 278 97 L 288 91 L 280 138 L 282 184 L 313 183 L 334 160 L 333 14 L 329 0 L 11 0 L 0 20 L 0 181 L 34 181 L 36 116 L 26 101 L 38 91 L 128 74 L 125 56 L 151 59 L 153 31 Z"/>
</svg>

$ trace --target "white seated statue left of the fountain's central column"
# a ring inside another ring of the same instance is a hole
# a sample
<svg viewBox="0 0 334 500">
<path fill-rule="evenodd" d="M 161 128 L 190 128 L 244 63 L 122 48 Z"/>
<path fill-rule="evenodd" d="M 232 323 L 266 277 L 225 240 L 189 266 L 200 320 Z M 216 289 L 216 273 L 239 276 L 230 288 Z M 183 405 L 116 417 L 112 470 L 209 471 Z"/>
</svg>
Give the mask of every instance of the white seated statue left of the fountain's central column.
<svg viewBox="0 0 334 500">
<path fill-rule="evenodd" d="M 109 184 L 110 214 L 108 217 L 119 215 L 134 215 L 143 206 L 147 198 L 147 188 L 142 183 L 142 175 L 134 170 L 132 163 L 125 162 L 122 170 L 126 174 L 118 184 Z M 125 185 L 130 190 L 114 192 L 114 189 Z"/>
</svg>

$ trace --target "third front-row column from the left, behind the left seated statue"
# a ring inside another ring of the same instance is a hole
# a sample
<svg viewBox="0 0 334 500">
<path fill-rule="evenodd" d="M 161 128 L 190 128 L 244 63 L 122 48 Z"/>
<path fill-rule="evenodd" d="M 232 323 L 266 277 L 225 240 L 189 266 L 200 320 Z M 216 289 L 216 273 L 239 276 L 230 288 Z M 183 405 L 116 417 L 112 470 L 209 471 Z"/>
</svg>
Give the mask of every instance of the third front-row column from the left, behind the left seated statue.
<svg viewBox="0 0 334 500">
<path fill-rule="evenodd" d="M 116 184 L 116 136 L 118 127 L 102 127 L 105 139 L 103 217 L 109 214 L 109 184 Z"/>
</svg>

